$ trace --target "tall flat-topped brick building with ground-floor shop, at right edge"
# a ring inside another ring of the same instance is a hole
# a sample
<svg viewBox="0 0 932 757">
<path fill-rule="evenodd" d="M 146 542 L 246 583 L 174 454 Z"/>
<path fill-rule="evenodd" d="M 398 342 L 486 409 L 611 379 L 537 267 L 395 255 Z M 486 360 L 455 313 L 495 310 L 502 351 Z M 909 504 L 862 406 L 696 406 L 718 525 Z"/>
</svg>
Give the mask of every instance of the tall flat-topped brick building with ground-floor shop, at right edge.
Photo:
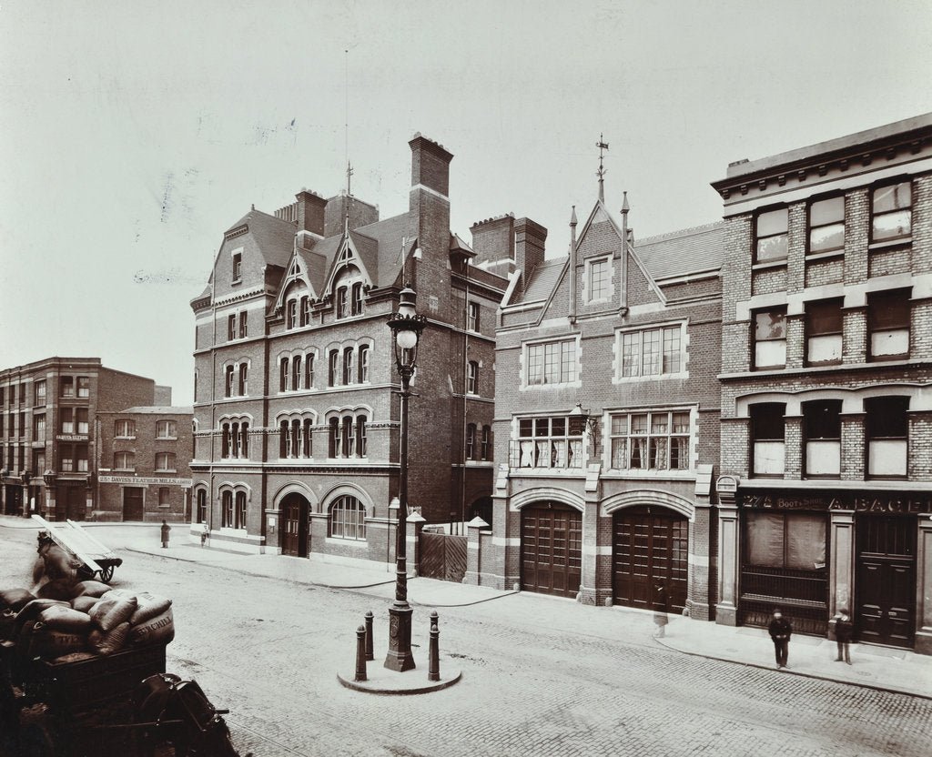
<svg viewBox="0 0 932 757">
<path fill-rule="evenodd" d="M 729 166 L 717 620 L 932 654 L 932 114 Z"/>
</svg>

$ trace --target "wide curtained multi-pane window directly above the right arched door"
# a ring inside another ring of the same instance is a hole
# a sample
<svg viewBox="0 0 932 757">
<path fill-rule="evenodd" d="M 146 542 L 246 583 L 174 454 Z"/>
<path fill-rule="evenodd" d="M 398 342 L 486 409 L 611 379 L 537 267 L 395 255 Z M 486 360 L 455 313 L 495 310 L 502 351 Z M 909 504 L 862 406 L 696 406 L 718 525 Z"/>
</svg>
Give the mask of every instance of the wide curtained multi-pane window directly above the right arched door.
<svg viewBox="0 0 932 757">
<path fill-rule="evenodd" d="M 611 467 L 619 471 L 688 470 L 689 410 L 612 415 Z"/>
</svg>

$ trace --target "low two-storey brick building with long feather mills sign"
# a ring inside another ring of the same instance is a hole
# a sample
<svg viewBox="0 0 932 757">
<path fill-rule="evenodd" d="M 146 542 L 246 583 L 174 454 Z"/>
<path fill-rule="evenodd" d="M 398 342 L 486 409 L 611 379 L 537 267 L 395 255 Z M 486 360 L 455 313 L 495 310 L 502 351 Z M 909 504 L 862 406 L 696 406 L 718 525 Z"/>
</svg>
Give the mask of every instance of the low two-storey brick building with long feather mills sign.
<svg viewBox="0 0 932 757">
<path fill-rule="evenodd" d="M 190 520 L 193 418 L 172 406 L 97 414 L 96 520 Z"/>
</svg>

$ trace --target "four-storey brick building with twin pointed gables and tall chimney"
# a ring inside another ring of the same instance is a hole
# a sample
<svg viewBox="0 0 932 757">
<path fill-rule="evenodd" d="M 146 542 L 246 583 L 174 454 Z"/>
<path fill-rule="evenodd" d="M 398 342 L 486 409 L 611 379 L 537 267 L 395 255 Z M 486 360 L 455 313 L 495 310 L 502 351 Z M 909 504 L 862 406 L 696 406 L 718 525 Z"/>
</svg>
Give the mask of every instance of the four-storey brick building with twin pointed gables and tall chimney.
<svg viewBox="0 0 932 757">
<path fill-rule="evenodd" d="M 349 187 L 302 190 L 224 234 L 192 301 L 195 520 L 214 545 L 393 560 L 400 379 L 386 320 L 408 283 L 429 319 L 409 502 L 428 522 L 489 509 L 494 319 L 513 263 L 472 264 L 450 232 L 453 156 L 419 134 L 409 145 L 406 213 L 379 220 Z"/>
</svg>

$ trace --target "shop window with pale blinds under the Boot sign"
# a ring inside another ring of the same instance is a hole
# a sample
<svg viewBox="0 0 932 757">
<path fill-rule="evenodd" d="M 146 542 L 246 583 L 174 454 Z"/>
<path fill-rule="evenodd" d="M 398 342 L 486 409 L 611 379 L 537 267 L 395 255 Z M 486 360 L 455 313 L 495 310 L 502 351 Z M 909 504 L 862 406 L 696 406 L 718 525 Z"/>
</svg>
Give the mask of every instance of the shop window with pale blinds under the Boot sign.
<svg viewBox="0 0 932 757">
<path fill-rule="evenodd" d="M 825 568 L 826 516 L 746 511 L 747 564 L 816 571 Z"/>
</svg>

